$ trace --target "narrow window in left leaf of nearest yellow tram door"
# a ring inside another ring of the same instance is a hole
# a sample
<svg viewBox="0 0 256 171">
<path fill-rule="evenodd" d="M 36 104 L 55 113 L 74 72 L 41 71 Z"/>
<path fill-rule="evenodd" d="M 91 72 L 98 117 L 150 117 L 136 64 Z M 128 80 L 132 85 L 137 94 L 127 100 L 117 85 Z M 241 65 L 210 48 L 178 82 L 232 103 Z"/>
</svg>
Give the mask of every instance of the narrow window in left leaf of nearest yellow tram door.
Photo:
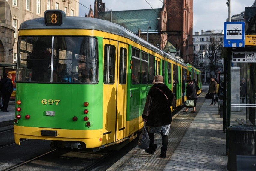
<svg viewBox="0 0 256 171">
<path fill-rule="evenodd" d="M 104 47 L 104 83 L 114 84 L 115 82 L 115 54 L 116 48 L 113 45 L 106 44 Z"/>
</svg>

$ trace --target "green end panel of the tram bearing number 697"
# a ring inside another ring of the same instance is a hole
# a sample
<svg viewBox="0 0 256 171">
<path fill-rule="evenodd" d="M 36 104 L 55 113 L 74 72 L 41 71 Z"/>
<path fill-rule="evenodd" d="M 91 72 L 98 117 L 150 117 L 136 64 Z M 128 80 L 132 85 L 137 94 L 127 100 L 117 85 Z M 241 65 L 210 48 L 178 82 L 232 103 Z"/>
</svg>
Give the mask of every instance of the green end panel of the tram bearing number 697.
<svg viewBox="0 0 256 171">
<path fill-rule="evenodd" d="M 15 114 L 20 114 L 21 118 L 15 125 L 70 130 L 102 129 L 102 84 L 17 83 L 16 89 L 16 99 L 21 100 L 16 107 L 20 107 L 21 111 Z M 84 102 L 88 102 L 89 106 L 85 107 Z M 84 109 L 89 110 L 88 114 L 84 114 Z M 46 111 L 55 111 L 55 116 L 46 116 Z M 25 115 L 30 115 L 30 118 L 25 119 Z M 74 116 L 77 121 L 73 121 Z M 93 123 L 92 127 L 85 126 L 85 116 Z"/>
</svg>

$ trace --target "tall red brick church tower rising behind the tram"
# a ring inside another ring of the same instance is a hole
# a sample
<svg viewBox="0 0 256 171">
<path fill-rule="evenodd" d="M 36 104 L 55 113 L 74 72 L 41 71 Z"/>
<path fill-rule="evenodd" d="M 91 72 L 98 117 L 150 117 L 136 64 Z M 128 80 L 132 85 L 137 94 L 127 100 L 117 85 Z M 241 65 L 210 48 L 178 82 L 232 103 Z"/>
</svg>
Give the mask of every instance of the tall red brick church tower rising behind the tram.
<svg viewBox="0 0 256 171">
<path fill-rule="evenodd" d="M 186 63 L 193 64 L 193 0 L 166 0 L 168 40 Z"/>
</svg>

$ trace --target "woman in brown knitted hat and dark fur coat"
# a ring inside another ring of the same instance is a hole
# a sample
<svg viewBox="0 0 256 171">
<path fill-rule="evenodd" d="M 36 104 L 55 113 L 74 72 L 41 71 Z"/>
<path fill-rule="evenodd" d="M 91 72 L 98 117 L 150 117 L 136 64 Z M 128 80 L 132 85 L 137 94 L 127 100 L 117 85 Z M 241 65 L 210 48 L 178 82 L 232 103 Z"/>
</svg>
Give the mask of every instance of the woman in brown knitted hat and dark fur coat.
<svg viewBox="0 0 256 171">
<path fill-rule="evenodd" d="M 149 154 L 154 154 L 157 148 L 157 144 L 154 144 L 154 133 L 161 134 L 162 147 L 159 157 L 165 158 L 168 145 L 168 133 L 172 122 L 170 107 L 173 105 L 174 95 L 163 83 L 163 76 L 156 75 L 153 83 L 154 85 L 148 92 L 142 114 L 142 118 L 146 120 L 148 126 L 149 136 L 149 148 L 145 149 L 145 151 Z"/>
</svg>

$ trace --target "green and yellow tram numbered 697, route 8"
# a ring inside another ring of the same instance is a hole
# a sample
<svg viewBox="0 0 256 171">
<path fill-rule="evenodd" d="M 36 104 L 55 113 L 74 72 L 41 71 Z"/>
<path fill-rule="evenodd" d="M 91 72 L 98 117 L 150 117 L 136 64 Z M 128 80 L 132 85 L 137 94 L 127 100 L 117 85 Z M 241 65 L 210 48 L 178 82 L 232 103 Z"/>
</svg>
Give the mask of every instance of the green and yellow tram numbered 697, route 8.
<svg viewBox="0 0 256 171">
<path fill-rule="evenodd" d="M 143 127 L 142 111 L 157 74 L 175 93 L 172 110 L 185 100 L 184 61 L 122 26 L 47 10 L 18 31 L 16 144 L 41 139 L 97 151 L 130 142 Z"/>
</svg>

